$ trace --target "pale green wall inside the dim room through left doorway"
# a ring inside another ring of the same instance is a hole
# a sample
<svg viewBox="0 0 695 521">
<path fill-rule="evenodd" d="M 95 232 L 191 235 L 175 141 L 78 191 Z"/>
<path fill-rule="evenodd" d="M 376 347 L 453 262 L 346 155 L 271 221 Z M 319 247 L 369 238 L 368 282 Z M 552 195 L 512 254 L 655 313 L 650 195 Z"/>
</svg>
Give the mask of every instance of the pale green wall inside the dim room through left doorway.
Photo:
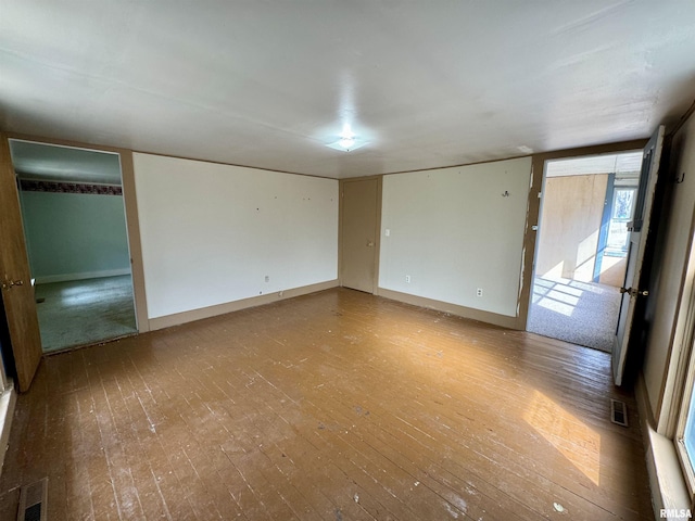
<svg viewBox="0 0 695 521">
<path fill-rule="evenodd" d="M 122 195 L 22 191 L 21 202 L 38 283 L 129 272 Z"/>
</svg>

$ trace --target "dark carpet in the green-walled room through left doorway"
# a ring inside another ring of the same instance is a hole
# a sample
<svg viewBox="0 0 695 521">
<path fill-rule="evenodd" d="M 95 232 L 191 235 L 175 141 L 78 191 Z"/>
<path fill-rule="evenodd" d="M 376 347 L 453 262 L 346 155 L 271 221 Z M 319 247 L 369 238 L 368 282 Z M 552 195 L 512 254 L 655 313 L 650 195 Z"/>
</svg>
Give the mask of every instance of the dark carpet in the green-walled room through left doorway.
<svg viewBox="0 0 695 521">
<path fill-rule="evenodd" d="M 45 352 L 137 332 L 130 276 L 37 284 Z"/>
</svg>

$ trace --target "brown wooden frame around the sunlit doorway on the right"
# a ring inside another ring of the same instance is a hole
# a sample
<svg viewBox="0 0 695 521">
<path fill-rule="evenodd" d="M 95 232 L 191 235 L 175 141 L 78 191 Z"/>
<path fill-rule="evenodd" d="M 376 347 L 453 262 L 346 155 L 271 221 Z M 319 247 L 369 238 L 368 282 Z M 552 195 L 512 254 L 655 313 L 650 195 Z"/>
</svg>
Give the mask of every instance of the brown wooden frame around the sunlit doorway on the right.
<svg viewBox="0 0 695 521">
<path fill-rule="evenodd" d="M 529 308 L 533 296 L 533 274 L 535 271 L 535 254 L 538 247 L 538 226 L 541 217 L 541 204 L 543 187 L 545 186 L 545 164 L 553 160 L 568 160 L 586 155 L 602 155 L 615 152 L 630 152 L 642 150 L 648 139 L 636 139 L 619 143 L 599 144 L 594 147 L 581 147 L 577 149 L 558 150 L 534 154 L 531 161 L 531 186 L 527 204 L 526 230 L 523 232 L 523 269 L 521 270 L 521 284 L 517 307 L 517 327 L 521 331 L 528 331 Z M 534 229 L 535 228 L 535 229 Z"/>
</svg>

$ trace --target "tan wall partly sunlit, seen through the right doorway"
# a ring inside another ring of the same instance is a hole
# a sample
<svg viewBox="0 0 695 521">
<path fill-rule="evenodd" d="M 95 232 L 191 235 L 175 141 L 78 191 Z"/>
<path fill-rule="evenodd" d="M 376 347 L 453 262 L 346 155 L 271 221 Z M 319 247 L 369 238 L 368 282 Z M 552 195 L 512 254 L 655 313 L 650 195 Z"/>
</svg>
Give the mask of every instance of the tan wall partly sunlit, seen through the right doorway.
<svg viewBox="0 0 695 521">
<path fill-rule="evenodd" d="M 536 275 L 593 280 L 607 185 L 607 174 L 545 180 Z"/>
</svg>

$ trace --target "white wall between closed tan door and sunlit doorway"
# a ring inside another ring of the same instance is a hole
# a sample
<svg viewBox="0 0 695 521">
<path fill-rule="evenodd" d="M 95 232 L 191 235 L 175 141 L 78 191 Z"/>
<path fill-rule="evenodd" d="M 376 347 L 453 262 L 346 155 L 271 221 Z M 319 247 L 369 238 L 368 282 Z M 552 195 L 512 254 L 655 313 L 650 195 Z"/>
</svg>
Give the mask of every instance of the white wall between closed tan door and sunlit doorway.
<svg viewBox="0 0 695 521">
<path fill-rule="evenodd" d="M 530 176 L 530 157 L 384 176 L 379 287 L 516 316 Z"/>
</svg>

